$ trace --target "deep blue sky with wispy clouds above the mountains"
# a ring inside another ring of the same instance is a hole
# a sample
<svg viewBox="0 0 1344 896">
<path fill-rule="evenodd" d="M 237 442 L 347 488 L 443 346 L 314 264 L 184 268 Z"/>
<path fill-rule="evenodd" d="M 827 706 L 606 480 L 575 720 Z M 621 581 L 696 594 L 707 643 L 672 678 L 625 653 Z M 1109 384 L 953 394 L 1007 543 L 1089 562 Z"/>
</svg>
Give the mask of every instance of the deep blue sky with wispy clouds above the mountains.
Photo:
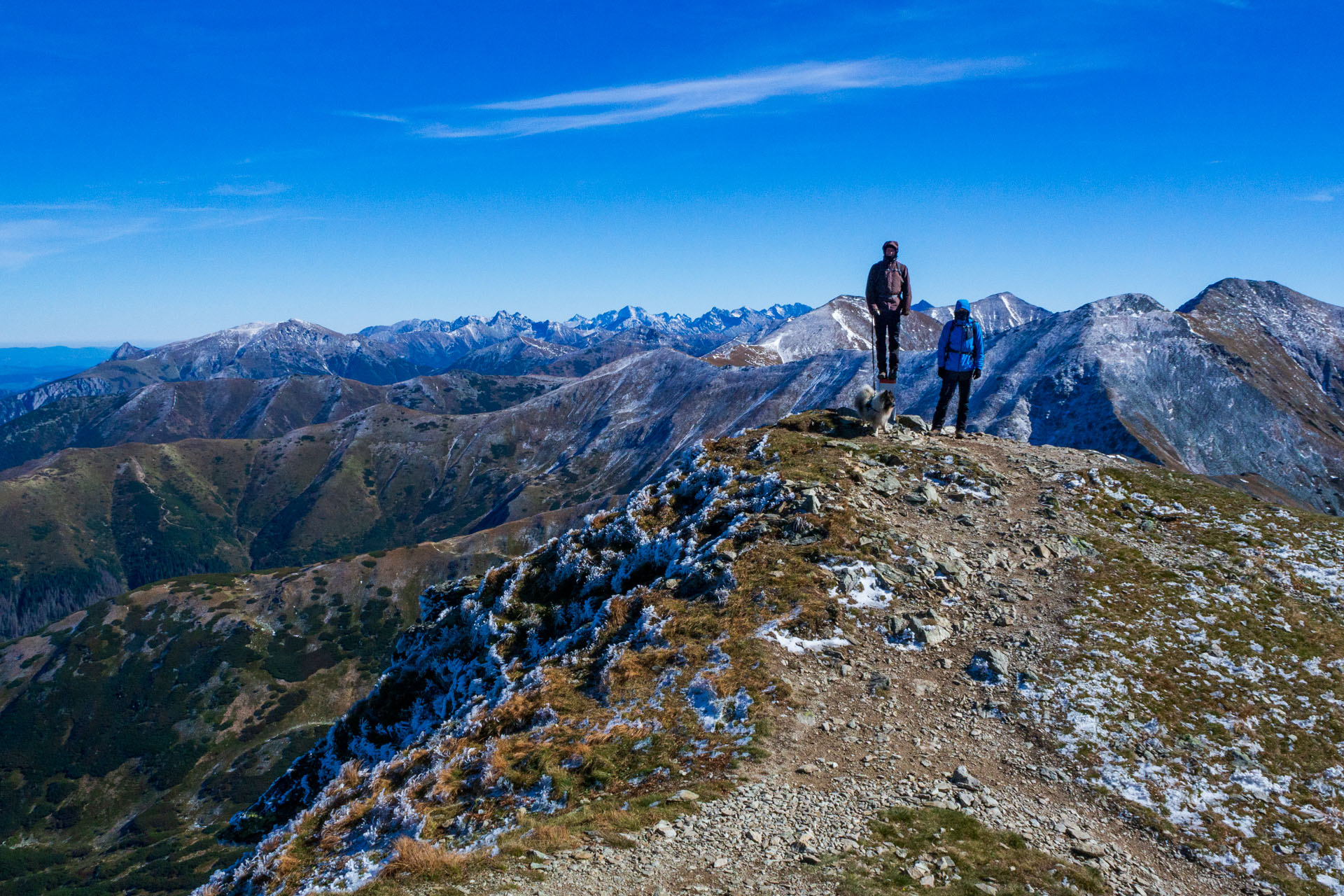
<svg viewBox="0 0 1344 896">
<path fill-rule="evenodd" d="M 1011 7 L 1011 11 L 1005 11 Z M 915 297 L 1344 304 L 1318 0 L 22 3 L 0 344 Z"/>
</svg>

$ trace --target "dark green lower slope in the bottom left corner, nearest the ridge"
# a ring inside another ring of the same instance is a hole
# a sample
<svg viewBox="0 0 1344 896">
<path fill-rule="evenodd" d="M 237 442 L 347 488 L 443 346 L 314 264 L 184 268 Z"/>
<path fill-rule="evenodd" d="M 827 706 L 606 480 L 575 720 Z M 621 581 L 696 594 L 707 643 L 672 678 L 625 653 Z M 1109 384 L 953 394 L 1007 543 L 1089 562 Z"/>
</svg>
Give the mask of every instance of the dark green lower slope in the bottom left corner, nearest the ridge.
<svg viewBox="0 0 1344 896">
<path fill-rule="evenodd" d="M 239 854 L 215 834 L 368 690 L 425 586 L 571 521 L 172 579 L 0 646 L 0 895 L 200 884 Z"/>
</svg>

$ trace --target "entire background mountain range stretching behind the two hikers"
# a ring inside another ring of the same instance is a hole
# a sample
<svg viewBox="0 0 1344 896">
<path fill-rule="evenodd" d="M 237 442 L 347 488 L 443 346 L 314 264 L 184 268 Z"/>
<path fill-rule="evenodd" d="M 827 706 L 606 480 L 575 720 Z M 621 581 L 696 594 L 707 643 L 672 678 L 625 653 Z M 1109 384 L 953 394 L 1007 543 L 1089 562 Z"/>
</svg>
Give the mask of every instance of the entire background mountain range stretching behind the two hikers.
<svg viewBox="0 0 1344 896">
<path fill-rule="evenodd" d="M 999 293 L 973 309 L 989 360 L 972 429 L 1344 508 L 1340 309 L 1242 279 L 1176 312 L 1137 294 L 1055 314 Z M 905 318 L 905 411 L 931 412 L 946 313 Z M 124 345 L 0 399 L 0 633 L 165 576 L 312 563 L 614 497 L 699 439 L 848 404 L 870 352 L 852 296 L 356 334 L 285 321 Z"/>
</svg>

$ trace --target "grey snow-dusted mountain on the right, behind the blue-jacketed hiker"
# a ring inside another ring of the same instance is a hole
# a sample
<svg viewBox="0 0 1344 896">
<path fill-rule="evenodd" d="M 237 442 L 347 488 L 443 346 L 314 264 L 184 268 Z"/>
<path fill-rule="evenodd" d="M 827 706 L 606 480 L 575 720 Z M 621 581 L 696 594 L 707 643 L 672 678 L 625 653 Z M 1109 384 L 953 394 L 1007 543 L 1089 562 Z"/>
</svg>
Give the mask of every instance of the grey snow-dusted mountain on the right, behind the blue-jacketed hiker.
<svg viewBox="0 0 1344 896">
<path fill-rule="evenodd" d="M 1344 509 L 1339 359 L 1344 312 L 1278 283 L 1226 279 L 1181 312 L 1116 296 L 988 340 L 970 423 L 1032 443 L 1253 474 L 1292 500 Z M 931 353 L 900 391 L 930 414 Z"/>
</svg>

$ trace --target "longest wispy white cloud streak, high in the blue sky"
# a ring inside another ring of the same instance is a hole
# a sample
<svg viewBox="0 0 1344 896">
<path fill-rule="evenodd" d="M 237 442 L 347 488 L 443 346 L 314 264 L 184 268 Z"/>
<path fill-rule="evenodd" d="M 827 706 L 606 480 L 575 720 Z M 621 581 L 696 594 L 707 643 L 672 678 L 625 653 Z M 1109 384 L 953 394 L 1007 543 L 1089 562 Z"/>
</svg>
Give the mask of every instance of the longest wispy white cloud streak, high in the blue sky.
<svg viewBox="0 0 1344 896">
<path fill-rule="evenodd" d="M 856 59 L 849 62 L 804 62 L 759 69 L 720 78 L 694 78 L 656 83 L 598 87 L 570 93 L 509 99 L 474 106 L 476 113 L 508 114 L 482 124 L 430 122 L 414 133 L 433 138 L 527 137 L 560 130 L 579 130 L 653 121 L 714 109 L 751 106 L 777 97 L 806 97 L 914 87 L 968 78 L 1001 75 L 1020 70 L 1019 56 L 992 59 Z M 466 113 L 464 113 L 466 114 Z M 366 116 L 374 118 L 375 116 Z M 398 116 L 388 116 L 398 121 Z"/>
</svg>

